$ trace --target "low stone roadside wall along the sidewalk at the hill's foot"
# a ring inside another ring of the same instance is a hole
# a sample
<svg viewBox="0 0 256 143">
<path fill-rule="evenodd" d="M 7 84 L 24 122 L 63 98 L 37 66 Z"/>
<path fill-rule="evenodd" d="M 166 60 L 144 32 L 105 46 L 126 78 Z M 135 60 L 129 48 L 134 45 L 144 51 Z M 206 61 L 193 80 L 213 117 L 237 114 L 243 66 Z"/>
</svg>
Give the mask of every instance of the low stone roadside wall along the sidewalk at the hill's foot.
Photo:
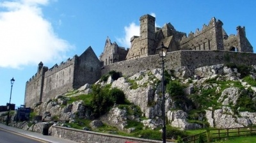
<svg viewBox="0 0 256 143">
<path fill-rule="evenodd" d="M 161 143 L 159 140 L 139 139 L 134 137 L 124 137 L 120 135 L 112 135 L 107 133 L 97 133 L 84 130 L 76 130 L 72 128 L 65 128 L 61 126 L 52 126 L 50 133 L 54 137 L 61 137 L 63 139 L 73 140 L 75 142 L 86 143 Z"/>
</svg>

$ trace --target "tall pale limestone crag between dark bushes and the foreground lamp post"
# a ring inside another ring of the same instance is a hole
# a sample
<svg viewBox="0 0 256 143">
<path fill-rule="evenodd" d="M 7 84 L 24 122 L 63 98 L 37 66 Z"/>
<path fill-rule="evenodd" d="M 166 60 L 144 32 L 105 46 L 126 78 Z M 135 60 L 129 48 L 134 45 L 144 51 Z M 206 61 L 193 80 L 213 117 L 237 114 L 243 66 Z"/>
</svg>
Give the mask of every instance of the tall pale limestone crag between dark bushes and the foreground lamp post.
<svg viewBox="0 0 256 143">
<path fill-rule="evenodd" d="M 149 107 L 151 103 L 157 102 L 158 100 L 155 98 L 156 93 L 154 89 L 154 80 L 157 80 L 157 78 L 152 73 L 153 72 L 151 71 L 141 71 L 140 73 L 129 77 L 128 80 L 134 80 L 138 85 L 136 89 L 131 89 L 131 83 L 124 77 L 115 80 L 111 86 L 124 91 L 125 98 L 135 105 L 140 106 L 141 110 L 145 112 L 145 116 L 149 118 L 159 115 L 159 113 L 156 112 L 152 114 L 152 110 L 157 111 L 159 109 L 157 106 L 159 105 L 156 105 L 156 107 Z M 157 70 L 154 70 L 154 73 L 159 76 Z M 150 80 L 150 78 L 152 80 Z"/>
</svg>

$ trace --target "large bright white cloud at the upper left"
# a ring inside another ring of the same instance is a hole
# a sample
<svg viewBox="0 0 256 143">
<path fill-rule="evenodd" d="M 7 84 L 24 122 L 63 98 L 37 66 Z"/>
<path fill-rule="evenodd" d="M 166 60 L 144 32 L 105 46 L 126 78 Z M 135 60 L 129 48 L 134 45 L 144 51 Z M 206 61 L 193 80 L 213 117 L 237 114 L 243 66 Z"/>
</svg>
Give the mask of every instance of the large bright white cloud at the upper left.
<svg viewBox="0 0 256 143">
<path fill-rule="evenodd" d="M 41 5 L 48 0 L 18 0 L 0 3 L 0 67 L 56 61 L 72 46 L 58 38 L 44 19 Z M 3 10 L 4 9 L 4 10 Z"/>
</svg>

